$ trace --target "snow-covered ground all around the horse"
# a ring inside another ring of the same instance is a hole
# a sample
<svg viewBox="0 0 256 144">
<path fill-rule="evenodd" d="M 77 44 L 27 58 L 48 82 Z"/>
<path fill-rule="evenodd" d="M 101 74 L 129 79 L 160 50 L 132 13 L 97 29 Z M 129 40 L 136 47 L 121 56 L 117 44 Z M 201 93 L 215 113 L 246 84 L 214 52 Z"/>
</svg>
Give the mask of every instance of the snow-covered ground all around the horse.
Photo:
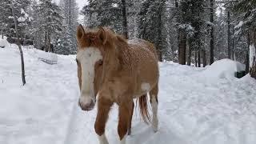
<svg viewBox="0 0 256 144">
<path fill-rule="evenodd" d="M 96 110 L 78 107 L 75 56 L 58 55 L 58 64 L 38 60 L 24 49 L 26 86 L 22 86 L 18 49 L 0 48 L 1 144 L 96 144 Z M 256 81 L 234 78 L 237 62 L 224 59 L 206 68 L 160 63 L 159 131 L 154 134 L 134 113 L 127 144 L 255 144 Z M 110 144 L 118 143 L 118 111 L 106 126 Z"/>
</svg>

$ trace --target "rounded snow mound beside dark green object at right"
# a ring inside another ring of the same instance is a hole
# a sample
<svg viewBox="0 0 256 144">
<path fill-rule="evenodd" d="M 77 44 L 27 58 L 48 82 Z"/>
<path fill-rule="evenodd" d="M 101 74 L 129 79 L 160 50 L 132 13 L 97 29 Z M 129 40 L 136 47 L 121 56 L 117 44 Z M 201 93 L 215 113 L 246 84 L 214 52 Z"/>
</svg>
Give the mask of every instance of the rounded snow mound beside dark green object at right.
<svg viewBox="0 0 256 144">
<path fill-rule="evenodd" d="M 207 66 L 201 75 L 205 78 L 234 78 L 235 72 L 246 70 L 246 66 L 230 59 L 222 59 Z"/>
</svg>

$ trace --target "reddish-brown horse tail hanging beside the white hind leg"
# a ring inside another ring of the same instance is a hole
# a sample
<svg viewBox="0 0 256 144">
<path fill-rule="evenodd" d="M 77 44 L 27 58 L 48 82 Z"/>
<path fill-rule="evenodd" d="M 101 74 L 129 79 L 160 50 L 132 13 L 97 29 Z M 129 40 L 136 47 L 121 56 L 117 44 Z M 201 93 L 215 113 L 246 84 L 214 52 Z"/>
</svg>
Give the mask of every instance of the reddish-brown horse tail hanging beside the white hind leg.
<svg viewBox="0 0 256 144">
<path fill-rule="evenodd" d="M 144 122 L 150 122 L 150 114 L 147 106 L 147 95 L 144 94 L 138 98 L 139 111 Z"/>
</svg>

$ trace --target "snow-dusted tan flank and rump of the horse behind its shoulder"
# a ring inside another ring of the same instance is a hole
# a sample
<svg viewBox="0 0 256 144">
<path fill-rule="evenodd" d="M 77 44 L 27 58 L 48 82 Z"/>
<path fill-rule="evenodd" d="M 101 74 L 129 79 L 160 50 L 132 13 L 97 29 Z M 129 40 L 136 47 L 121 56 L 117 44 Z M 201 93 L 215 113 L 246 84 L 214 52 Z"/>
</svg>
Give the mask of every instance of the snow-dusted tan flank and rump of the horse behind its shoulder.
<svg viewBox="0 0 256 144">
<path fill-rule="evenodd" d="M 152 43 L 142 39 L 129 40 L 128 45 L 137 79 L 134 97 L 139 97 L 158 84 L 158 54 Z"/>
</svg>

